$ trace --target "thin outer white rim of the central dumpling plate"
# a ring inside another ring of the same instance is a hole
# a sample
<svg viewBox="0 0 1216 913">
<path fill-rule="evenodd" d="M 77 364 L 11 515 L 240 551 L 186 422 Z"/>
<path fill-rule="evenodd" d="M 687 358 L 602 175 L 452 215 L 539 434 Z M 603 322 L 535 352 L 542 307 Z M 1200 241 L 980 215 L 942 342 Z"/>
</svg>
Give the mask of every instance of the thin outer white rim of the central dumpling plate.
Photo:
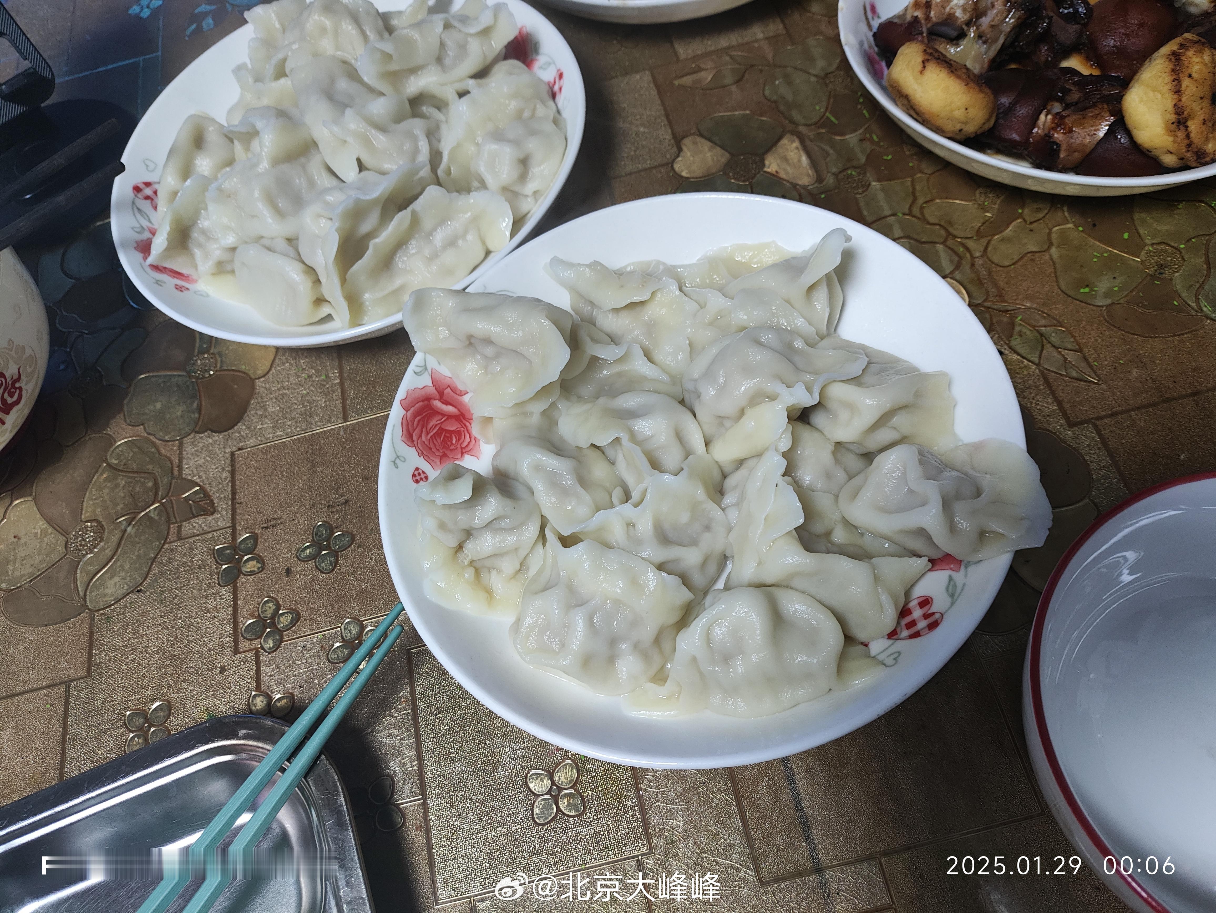
<svg viewBox="0 0 1216 913">
<path fill-rule="evenodd" d="M 599 209 L 587 215 L 584 215 L 578 220 L 568 222 L 567 225 L 573 225 L 575 221 L 581 222 L 584 220 L 606 218 L 603 216 L 603 213 L 608 212 L 609 209 L 617 212 L 637 210 L 653 205 L 663 205 L 663 201 L 670 201 L 670 199 L 724 201 L 728 203 L 739 203 L 739 201 L 749 201 L 749 203 L 747 204 L 761 204 L 765 207 L 783 207 L 789 209 L 798 209 L 801 212 L 809 209 L 816 210 L 835 220 L 839 225 L 845 227 L 850 232 L 850 235 L 854 236 L 854 238 L 865 235 L 865 236 L 872 236 L 872 238 L 878 239 L 883 244 L 890 244 L 893 249 L 900 252 L 901 257 L 907 258 L 907 264 L 912 269 L 923 270 L 927 277 L 931 277 L 933 282 L 940 284 L 944 300 L 948 300 L 951 303 L 953 301 L 958 303 L 958 308 L 961 309 L 961 315 L 966 320 L 973 321 L 975 326 L 980 328 L 980 332 L 984 333 L 984 339 L 987 342 L 987 345 L 991 346 L 992 349 L 992 354 L 1000 361 L 1000 355 L 997 354 L 996 346 L 992 344 L 986 332 L 983 331 L 983 328 L 979 325 L 979 321 L 970 312 L 969 308 L 967 308 L 967 305 L 963 304 L 958 294 L 948 284 L 946 284 L 945 281 L 938 276 L 938 274 L 935 274 L 928 265 L 918 260 L 913 254 L 895 244 L 895 242 L 885 238 L 884 236 L 879 235 L 878 232 L 873 231 L 872 229 L 865 225 L 855 222 L 851 219 L 848 219 L 846 216 L 832 213 L 831 210 L 820 209 L 818 207 L 811 207 L 804 203 L 781 199 L 776 197 L 762 197 L 762 196 L 726 193 L 726 192 L 676 193 L 676 195 L 668 195 L 665 197 L 647 197 L 642 199 L 630 201 L 627 203 L 620 203 L 614 207 L 608 207 L 606 209 Z M 531 244 L 540 243 L 542 239 L 545 239 L 545 237 L 546 236 L 540 236 L 537 238 L 534 238 L 533 241 L 529 242 L 528 246 L 516 252 L 516 255 L 519 255 L 523 250 L 527 250 L 527 248 L 530 247 Z M 492 282 L 492 281 L 494 281 L 492 274 L 489 277 L 483 277 L 482 280 L 483 288 L 475 291 L 491 291 L 490 287 L 486 287 L 486 282 Z M 434 654 L 435 659 L 447 670 L 447 672 L 462 687 L 465 687 L 469 693 L 472 693 L 473 697 L 475 697 L 482 704 L 484 704 L 486 708 L 492 710 L 502 718 L 507 720 L 510 723 L 531 733 L 533 736 L 536 736 L 537 738 L 545 739 L 551 744 L 561 745 L 568 750 L 578 751 L 580 754 L 585 754 L 592 757 L 598 757 L 604 761 L 614 763 L 624 763 L 636 767 L 706 770 L 717 767 L 734 767 L 741 765 L 770 761 L 777 757 L 796 754 L 799 751 L 805 751 L 807 749 L 821 745 L 826 742 L 831 742 L 888 712 L 890 709 L 899 705 L 911 694 L 918 691 L 925 682 L 929 681 L 929 678 L 936 675 L 940 671 L 940 669 L 955 655 L 955 653 L 957 653 L 957 650 L 962 647 L 962 644 L 967 641 L 967 638 L 970 637 L 972 632 L 975 630 L 975 626 L 980 622 L 984 614 L 987 612 L 987 608 L 991 604 L 992 599 L 996 597 L 996 592 L 1001 587 L 1001 584 L 1004 580 L 1009 565 L 1013 562 L 1012 554 L 1003 554 L 997 558 L 987 559 L 987 562 L 980 562 L 970 565 L 970 567 L 986 565 L 987 568 L 990 568 L 991 570 L 985 574 L 985 576 L 990 576 L 990 580 L 986 587 L 980 591 L 979 598 L 976 598 L 974 602 L 969 601 L 967 618 L 963 618 L 962 613 L 956 614 L 955 610 L 947 612 L 945 613 L 945 619 L 942 620 L 940 626 L 933 631 L 933 636 L 934 638 L 936 638 L 931 641 L 931 646 L 934 646 L 933 654 L 935 658 L 940 658 L 940 661 L 934 660 L 924 664 L 918 664 L 916 666 L 914 674 L 902 674 L 901 687 L 890 688 L 883 695 L 882 700 L 872 701 L 871 705 L 867 706 L 866 711 L 858 717 L 841 720 L 839 723 L 829 727 L 816 728 L 814 732 L 809 732 L 804 734 L 801 738 L 788 739 L 787 742 L 781 744 L 781 749 L 777 751 L 772 750 L 771 748 L 760 748 L 760 749 L 722 750 L 711 756 L 647 755 L 647 754 L 638 754 L 638 753 L 630 754 L 627 751 L 621 751 L 619 749 L 614 749 L 610 744 L 606 743 L 587 742 L 586 739 L 580 739 L 576 737 L 572 738 L 569 733 L 551 727 L 544 718 L 537 718 L 536 716 L 528 716 L 518 712 L 516 709 L 505 703 L 496 693 L 484 687 L 483 683 L 475 678 L 475 676 L 469 674 L 469 670 L 465 669 L 458 661 L 454 659 L 451 653 L 445 649 L 441 638 L 437 639 L 433 636 L 433 629 L 428 624 L 427 610 L 420 609 L 407 597 L 406 580 L 410 571 L 404 565 L 401 558 L 395 553 L 395 550 L 393 547 L 395 536 L 393 535 L 388 522 L 389 512 L 392 509 L 392 505 L 389 503 L 388 498 L 390 496 L 392 489 L 394 488 L 389 481 L 388 474 L 389 472 L 395 472 L 394 469 L 392 469 L 390 466 L 392 463 L 390 455 L 395 452 L 394 441 L 399 422 L 398 402 L 405 395 L 405 391 L 409 389 L 410 370 L 412 368 L 412 366 L 413 362 L 411 361 L 411 366 L 406 368 L 405 377 L 402 378 L 402 382 L 396 394 L 394 395 L 393 408 L 390 408 L 385 423 L 384 439 L 381 450 L 381 464 L 378 470 L 377 508 L 379 512 L 381 540 L 384 547 L 384 556 L 388 563 L 389 575 L 393 579 L 394 587 L 396 588 L 399 598 L 405 604 L 406 612 L 409 613 L 410 619 L 415 625 L 415 629 L 418 631 L 418 635 L 422 637 L 426 646 Z M 1007 387 L 1008 394 L 1013 396 L 1014 395 L 1013 384 L 1008 377 L 1008 373 L 1003 371 L 1003 365 L 1002 365 L 1001 381 L 1003 381 L 1003 384 Z M 1014 436 L 1017 436 L 1018 440 L 1014 443 L 1019 444 L 1020 446 L 1025 446 L 1025 434 L 1020 415 L 1017 416 L 1015 421 L 1017 421 L 1017 429 Z M 1010 432 L 1013 429 L 1010 429 Z M 922 577 L 921 581 L 918 581 L 917 586 L 923 585 L 925 577 Z M 440 607 L 434 607 L 434 608 L 438 612 L 454 612 L 450 609 L 441 609 Z M 899 642 L 899 643 L 906 643 L 906 642 Z M 923 641 L 918 641 L 918 643 L 923 644 Z M 510 641 L 505 642 L 505 647 L 507 649 L 511 649 Z M 860 688 L 851 689 L 845 693 L 850 695 L 868 694 L 868 691 L 866 689 L 877 691 L 878 688 L 876 682 L 882 682 L 882 680 L 883 676 L 876 676 L 876 678 L 872 680 L 871 682 L 867 682 Z M 581 688 L 580 686 L 568 682 L 563 682 L 562 684 L 572 688 Z M 807 701 L 806 704 L 798 705 L 783 712 L 790 714 L 796 711 L 799 706 L 806 708 L 809 705 L 815 705 L 815 704 L 816 701 Z M 771 720 L 778 716 L 781 716 L 781 714 L 773 715 L 772 717 L 760 717 L 760 720 Z M 685 718 L 691 718 L 691 717 L 685 717 Z M 721 717 L 721 718 L 730 720 L 731 717 Z"/>
</svg>

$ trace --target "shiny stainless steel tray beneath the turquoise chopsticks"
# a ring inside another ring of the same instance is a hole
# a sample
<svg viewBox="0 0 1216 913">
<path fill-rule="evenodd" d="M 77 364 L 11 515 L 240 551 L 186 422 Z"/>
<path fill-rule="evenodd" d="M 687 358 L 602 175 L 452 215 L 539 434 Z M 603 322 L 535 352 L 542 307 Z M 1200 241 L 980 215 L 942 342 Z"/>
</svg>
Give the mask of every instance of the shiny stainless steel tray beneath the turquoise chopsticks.
<svg viewBox="0 0 1216 913">
<path fill-rule="evenodd" d="M 216 717 L 0 807 L 0 913 L 136 911 L 161 878 L 158 853 L 188 846 L 286 729 L 269 717 Z M 323 755 L 258 858 L 265 864 L 232 883 L 215 911 L 372 911 L 347 794 Z"/>
</svg>

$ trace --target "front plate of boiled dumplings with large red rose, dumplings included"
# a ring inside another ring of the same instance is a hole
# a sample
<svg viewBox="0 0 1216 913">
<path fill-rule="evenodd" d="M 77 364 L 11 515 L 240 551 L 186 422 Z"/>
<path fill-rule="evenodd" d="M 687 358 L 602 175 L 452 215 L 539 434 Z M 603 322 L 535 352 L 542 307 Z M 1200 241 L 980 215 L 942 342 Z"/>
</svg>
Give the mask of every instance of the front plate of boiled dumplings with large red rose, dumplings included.
<svg viewBox="0 0 1216 913">
<path fill-rule="evenodd" d="M 1051 507 L 996 346 L 823 209 L 585 215 L 402 311 L 389 570 L 491 710 L 643 767 L 755 763 L 890 710 Z"/>
</svg>

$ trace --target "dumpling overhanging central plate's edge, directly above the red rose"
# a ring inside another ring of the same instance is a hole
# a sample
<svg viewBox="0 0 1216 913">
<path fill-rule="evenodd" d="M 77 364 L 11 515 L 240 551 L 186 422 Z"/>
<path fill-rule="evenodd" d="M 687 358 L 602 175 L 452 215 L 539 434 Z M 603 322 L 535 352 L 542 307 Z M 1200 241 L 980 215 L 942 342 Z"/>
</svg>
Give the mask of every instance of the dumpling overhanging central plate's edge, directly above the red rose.
<svg viewBox="0 0 1216 913">
<path fill-rule="evenodd" d="M 423 288 L 401 317 L 413 345 L 452 372 L 479 416 L 510 415 L 554 384 L 570 357 L 574 317 L 536 298 Z"/>
</svg>

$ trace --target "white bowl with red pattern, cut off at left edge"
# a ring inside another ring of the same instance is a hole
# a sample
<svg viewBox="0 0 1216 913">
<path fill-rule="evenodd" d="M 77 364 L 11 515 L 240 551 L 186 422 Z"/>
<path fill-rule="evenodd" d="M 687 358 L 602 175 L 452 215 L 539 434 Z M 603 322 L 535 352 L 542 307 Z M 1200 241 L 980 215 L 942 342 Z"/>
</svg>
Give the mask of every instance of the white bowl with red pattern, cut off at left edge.
<svg viewBox="0 0 1216 913">
<path fill-rule="evenodd" d="M 0 250 L 0 451 L 34 408 L 49 353 L 38 286 L 11 247 Z"/>
</svg>

